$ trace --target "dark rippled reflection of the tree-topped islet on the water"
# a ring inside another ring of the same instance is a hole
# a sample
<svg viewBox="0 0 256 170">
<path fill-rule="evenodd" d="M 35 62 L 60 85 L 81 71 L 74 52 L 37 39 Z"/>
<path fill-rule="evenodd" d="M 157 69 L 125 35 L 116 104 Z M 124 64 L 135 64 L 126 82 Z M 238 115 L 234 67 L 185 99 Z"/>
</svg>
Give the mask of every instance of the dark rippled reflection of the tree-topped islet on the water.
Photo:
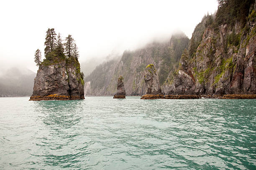
<svg viewBox="0 0 256 170">
<path fill-rule="evenodd" d="M 77 136 L 81 135 L 79 123 L 83 117 L 83 105 L 83 100 L 34 102 L 34 111 L 40 113 L 36 117 L 37 122 L 41 121 L 44 128 L 40 130 L 41 135 L 35 143 L 42 154 L 38 155 L 37 150 L 31 155 L 43 157 L 47 166 L 61 164 L 65 167 L 66 164 L 77 162 L 77 154 L 72 153 L 74 150 L 70 146 L 74 146 Z M 58 150 L 58 155 L 55 150 Z"/>
</svg>

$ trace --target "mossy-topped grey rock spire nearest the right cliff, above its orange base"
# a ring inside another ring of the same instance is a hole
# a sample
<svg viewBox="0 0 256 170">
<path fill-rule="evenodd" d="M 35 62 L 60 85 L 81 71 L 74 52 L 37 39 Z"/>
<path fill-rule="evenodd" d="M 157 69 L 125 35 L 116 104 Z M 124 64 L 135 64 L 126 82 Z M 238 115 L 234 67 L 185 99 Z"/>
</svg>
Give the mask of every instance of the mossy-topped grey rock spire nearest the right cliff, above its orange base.
<svg viewBox="0 0 256 170">
<path fill-rule="evenodd" d="M 147 85 L 146 94 L 162 95 L 161 86 L 153 64 L 149 64 L 146 67 L 144 80 Z"/>
</svg>

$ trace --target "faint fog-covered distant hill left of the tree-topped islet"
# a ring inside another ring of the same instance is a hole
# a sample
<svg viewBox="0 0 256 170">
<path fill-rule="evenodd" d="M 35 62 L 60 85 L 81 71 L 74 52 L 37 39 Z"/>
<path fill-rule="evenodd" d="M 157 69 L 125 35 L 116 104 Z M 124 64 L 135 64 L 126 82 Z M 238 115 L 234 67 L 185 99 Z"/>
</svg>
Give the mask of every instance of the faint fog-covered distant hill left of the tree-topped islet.
<svg viewBox="0 0 256 170">
<path fill-rule="evenodd" d="M 0 76 L 0 97 L 30 96 L 36 73 L 26 68 L 13 67 Z"/>
</svg>

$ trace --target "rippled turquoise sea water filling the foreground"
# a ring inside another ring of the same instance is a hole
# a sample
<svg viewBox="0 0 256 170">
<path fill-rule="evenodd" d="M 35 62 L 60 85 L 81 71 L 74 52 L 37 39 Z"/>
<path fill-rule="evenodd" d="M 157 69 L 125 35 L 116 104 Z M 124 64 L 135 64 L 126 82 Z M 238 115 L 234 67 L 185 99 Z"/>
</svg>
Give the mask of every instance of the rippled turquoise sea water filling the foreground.
<svg viewBox="0 0 256 170">
<path fill-rule="evenodd" d="M 256 169 L 256 100 L 0 98 L 0 169 Z"/>
</svg>

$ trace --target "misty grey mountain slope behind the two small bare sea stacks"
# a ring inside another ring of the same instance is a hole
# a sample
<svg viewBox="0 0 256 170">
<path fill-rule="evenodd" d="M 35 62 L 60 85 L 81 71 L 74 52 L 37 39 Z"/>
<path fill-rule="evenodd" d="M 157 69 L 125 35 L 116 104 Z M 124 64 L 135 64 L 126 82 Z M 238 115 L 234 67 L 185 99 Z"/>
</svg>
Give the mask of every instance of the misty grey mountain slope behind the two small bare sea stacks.
<svg viewBox="0 0 256 170">
<path fill-rule="evenodd" d="M 85 95 L 113 95 L 116 82 L 123 75 L 126 95 L 143 95 L 146 92 L 144 71 L 154 64 L 162 85 L 169 72 L 178 67 L 182 51 L 189 39 L 183 33 L 173 35 L 169 42 L 154 42 L 135 51 L 125 51 L 120 60 L 111 60 L 95 68 L 85 78 Z"/>
</svg>

